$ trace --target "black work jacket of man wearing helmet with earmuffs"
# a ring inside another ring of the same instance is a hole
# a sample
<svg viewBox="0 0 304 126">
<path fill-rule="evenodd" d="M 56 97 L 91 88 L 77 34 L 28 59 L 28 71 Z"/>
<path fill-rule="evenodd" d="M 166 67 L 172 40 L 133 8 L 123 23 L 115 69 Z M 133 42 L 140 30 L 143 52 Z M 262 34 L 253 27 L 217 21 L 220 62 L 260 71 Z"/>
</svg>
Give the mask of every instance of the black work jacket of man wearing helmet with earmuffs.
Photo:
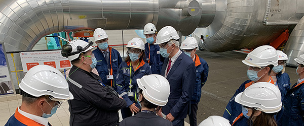
<svg viewBox="0 0 304 126">
<path fill-rule="evenodd" d="M 74 99 L 68 100 L 70 125 L 116 125 L 118 110 L 126 107 L 119 98 L 102 85 L 101 78 L 73 66 L 67 79 Z"/>
</svg>

